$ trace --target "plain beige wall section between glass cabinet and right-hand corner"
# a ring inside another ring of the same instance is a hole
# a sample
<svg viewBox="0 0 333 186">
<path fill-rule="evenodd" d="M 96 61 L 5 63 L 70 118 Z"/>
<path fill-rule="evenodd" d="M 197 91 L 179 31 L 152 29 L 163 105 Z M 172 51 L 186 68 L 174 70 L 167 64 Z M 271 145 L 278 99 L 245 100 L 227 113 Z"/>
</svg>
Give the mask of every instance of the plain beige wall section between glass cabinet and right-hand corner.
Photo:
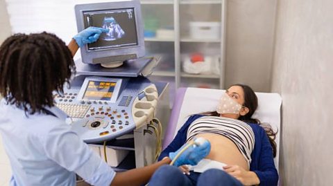
<svg viewBox="0 0 333 186">
<path fill-rule="evenodd" d="M 277 0 L 227 0 L 225 85 L 271 91 Z"/>
</svg>

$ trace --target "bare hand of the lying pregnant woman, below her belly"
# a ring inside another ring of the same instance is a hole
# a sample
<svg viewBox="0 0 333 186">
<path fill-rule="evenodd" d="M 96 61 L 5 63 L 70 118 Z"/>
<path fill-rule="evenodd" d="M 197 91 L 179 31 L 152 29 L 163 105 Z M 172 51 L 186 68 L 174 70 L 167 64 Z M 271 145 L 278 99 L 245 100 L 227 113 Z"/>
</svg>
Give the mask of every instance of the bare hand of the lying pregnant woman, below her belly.
<svg viewBox="0 0 333 186">
<path fill-rule="evenodd" d="M 259 185 L 260 180 L 253 171 L 246 171 L 238 165 L 226 165 L 223 169 L 231 176 L 239 180 L 243 185 Z"/>
</svg>

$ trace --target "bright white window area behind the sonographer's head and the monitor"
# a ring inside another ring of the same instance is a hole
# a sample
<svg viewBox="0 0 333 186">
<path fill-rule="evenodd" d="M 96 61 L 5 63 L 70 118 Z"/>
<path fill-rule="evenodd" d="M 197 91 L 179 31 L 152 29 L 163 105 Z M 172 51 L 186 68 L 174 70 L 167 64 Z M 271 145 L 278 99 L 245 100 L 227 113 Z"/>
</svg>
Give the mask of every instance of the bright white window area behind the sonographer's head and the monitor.
<svg viewBox="0 0 333 186">
<path fill-rule="evenodd" d="M 105 2 L 105 0 L 6 0 L 6 2 L 12 32 L 52 32 L 68 43 L 77 33 L 74 6 L 81 3 Z"/>
</svg>

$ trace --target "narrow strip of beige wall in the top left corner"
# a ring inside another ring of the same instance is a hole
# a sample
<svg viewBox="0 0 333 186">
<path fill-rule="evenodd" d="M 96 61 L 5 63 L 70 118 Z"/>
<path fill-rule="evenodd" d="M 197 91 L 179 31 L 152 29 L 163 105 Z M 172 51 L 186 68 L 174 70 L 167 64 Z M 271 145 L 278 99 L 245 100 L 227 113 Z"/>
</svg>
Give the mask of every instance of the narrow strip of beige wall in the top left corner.
<svg viewBox="0 0 333 186">
<path fill-rule="evenodd" d="M 0 25 L 0 44 L 2 44 L 3 40 L 10 36 L 11 33 L 6 2 L 4 0 L 0 0 Z"/>
</svg>

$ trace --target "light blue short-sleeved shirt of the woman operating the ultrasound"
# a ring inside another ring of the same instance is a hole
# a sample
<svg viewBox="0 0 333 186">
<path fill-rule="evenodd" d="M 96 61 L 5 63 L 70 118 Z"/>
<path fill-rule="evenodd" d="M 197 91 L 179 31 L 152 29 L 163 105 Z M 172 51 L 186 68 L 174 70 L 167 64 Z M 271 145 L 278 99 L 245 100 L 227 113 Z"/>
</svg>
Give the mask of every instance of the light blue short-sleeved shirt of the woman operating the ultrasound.
<svg viewBox="0 0 333 186">
<path fill-rule="evenodd" d="M 0 102 L 0 134 L 12 167 L 10 185 L 76 185 L 78 174 L 91 185 L 110 185 L 115 172 L 65 123 L 56 106 L 53 115 L 30 115 Z"/>
</svg>

